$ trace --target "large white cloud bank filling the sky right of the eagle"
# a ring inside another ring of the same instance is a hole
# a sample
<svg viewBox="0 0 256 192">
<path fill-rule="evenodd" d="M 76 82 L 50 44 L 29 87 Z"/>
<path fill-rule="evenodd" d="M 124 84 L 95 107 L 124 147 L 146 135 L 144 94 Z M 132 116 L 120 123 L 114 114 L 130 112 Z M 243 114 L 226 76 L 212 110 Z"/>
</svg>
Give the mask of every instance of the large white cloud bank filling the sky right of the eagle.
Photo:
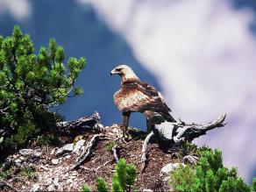
<svg viewBox="0 0 256 192">
<path fill-rule="evenodd" d="M 224 0 L 78 0 L 91 3 L 132 46 L 163 88 L 176 117 L 208 122 L 226 112 L 224 129 L 196 142 L 223 150 L 226 165 L 248 179 L 256 153 L 256 43 L 253 14 Z"/>
</svg>

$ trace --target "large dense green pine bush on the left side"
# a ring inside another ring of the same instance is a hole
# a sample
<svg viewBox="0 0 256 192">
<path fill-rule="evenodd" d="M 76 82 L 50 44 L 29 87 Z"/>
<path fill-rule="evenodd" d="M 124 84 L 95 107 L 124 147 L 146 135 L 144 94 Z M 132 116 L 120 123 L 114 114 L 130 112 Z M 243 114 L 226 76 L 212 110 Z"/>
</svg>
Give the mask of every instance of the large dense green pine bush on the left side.
<svg viewBox="0 0 256 192">
<path fill-rule="evenodd" d="M 53 131 L 62 119 L 51 109 L 65 103 L 85 59 L 68 59 L 55 39 L 39 53 L 29 35 L 15 26 L 10 37 L 0 36 L 0 151 L 25 145 L 35 135 Z M 75 87 L 72 96 L 82 94 Z"/>
</svg>

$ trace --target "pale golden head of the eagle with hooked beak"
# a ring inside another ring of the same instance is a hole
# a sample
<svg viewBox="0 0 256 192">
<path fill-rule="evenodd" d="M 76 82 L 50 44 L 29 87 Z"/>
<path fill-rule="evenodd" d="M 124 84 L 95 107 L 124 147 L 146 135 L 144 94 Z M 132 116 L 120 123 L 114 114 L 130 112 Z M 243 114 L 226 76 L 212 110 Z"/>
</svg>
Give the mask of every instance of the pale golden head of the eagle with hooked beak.
<svg viewBox="0 0 256 192">
<path fill-rule="evenodd" d="M 137 75 L 134 74 L 132 68 L 126 65 L 119 65 L 117 68 L 111 70 L 110 75 L 120 75 L 122 78 L 122 82 L 128 79 L 139 79 Z"/>
</svg>

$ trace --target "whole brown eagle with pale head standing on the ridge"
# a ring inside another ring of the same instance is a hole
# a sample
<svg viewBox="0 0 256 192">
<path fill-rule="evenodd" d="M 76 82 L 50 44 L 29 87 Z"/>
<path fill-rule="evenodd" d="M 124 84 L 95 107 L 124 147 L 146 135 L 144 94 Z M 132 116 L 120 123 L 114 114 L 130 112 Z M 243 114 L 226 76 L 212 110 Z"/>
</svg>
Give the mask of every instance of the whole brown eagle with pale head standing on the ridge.
<svg viewBox="0 0 256 192">
<path fill-rule="evenodd" d="M 114 94 L 114 102 L 123 112 L 124 133 L 128 127 L 131 112 L 141 112 L 146 115 L 148 132 L 154 124 L 164 121 L 175 122 L 160 92 L 146 82 L 140 81 L 132 68 L 120 65 L 111 71 L 111 75 L 121 76 L 121 87 Z"/>
</svg>

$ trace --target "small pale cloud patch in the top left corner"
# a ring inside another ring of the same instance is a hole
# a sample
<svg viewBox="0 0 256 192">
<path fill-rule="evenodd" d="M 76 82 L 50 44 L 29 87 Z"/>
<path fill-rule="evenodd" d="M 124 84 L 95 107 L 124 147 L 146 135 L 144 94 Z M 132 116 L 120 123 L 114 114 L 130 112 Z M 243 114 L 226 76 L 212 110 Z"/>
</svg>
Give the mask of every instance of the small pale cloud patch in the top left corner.
<svg viewBox="0 0 256 192">
<path fill-rule="evenodd" d="M 10 11 L 18 20 L 27 18 L 31 13 L 31 4 L 29 0 L 1 0 L 0 13 Z"/>
</svg>

